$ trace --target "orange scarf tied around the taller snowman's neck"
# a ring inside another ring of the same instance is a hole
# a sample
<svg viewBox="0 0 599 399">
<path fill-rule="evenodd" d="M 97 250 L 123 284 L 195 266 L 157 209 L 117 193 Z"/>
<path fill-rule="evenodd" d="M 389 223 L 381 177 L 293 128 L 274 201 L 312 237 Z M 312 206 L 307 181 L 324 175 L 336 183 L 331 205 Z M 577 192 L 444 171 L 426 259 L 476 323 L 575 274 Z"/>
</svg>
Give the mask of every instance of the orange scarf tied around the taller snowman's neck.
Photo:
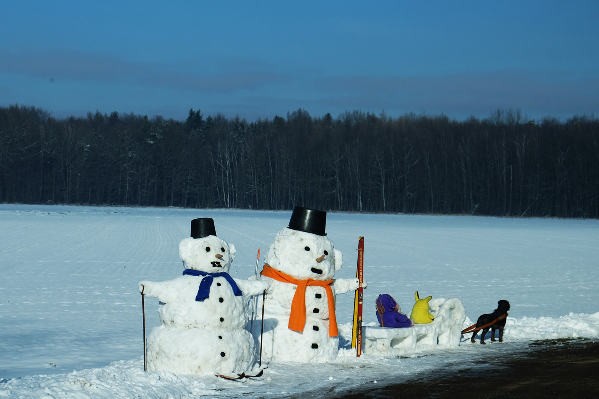
<svg viewBox="0 0 599 399">
<path fill-rule="evenodd" d="M 292 276 L 286 275 L 285 273 L 279 272 L 272 267 L 265 264 L 260 272 L 262 276 L 270 277 L 276 281 L 287 282 L 289 284 L 295 284 L 298 288 L 295 290 L 294 299 L 291 301 L 291 313 L 289 314 L 289 330 L 304 331 L 305 327 L 305 290 L 308 286 L 316 285 L 318 287 L 325 287 L 326 297 L 329 305 L 329 337 L 336 337 L 339 334 L 337 330 L 337 316 L 335 316 L 335 297 L 333 296 L 333 290 L 331 284 L 333 280 L 298 280 Z"/>
</svg>

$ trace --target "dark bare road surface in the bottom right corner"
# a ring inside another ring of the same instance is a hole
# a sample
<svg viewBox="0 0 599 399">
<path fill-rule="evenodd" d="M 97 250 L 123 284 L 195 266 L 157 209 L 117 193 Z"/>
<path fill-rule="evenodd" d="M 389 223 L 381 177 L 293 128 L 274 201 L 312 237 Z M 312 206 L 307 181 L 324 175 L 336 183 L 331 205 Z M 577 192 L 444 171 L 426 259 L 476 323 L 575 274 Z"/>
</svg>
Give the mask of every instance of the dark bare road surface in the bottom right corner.
<svg viewBox="0 0 599 399">
<path fill-rule="evenodd" d="M 481 367 L 481 366 L 485 367 Z M 489 358 L 440 376 L 340 395 L 344 399 L 386 398 L 599 398 L 599 341 L 543 340 L 525 351 Z"/>
</svg>

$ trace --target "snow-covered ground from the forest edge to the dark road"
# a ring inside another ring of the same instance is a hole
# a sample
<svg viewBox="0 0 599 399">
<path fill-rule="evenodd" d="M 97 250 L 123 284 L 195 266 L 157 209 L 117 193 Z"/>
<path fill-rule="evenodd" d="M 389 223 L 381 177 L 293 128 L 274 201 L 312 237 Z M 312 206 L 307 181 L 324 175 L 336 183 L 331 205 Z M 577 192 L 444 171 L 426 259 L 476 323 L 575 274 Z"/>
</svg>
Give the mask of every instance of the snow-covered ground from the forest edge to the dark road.
<svg viewBox="0 0 599 399">
<path fill-rule="evenodd" d="M 517 351 L 530 340 L 599 338 L 599 221 L 328 214 L 326 232 L 344 256 L 338 278 L 356 273 L 365 237 L 365 324 L 374 300 L 391 294 L 409 312 L 414 293 L 462 300 L 472 324 L 500 299 L 512 304 L 506 342 L 462 340 L 426 356 L 333 363 L 270 363 L 258 379 L 143 371 L 141 280 L 181 274 L 177 245 L 193 218 L 214 218 L 234 243 L 231 275 L 254 274 L 291 212 L 0 205 L 0 397 L 195 398 L 320 397 L 366 384 Z M 159 325 L 146 299 L 146 328 Z M 347 348 L 353 294 L 338 297 Z M 468 337 L 469 338 L 469 337 Z M 264 364 L 262 365 L 264 366 Z"/>
</svg>

